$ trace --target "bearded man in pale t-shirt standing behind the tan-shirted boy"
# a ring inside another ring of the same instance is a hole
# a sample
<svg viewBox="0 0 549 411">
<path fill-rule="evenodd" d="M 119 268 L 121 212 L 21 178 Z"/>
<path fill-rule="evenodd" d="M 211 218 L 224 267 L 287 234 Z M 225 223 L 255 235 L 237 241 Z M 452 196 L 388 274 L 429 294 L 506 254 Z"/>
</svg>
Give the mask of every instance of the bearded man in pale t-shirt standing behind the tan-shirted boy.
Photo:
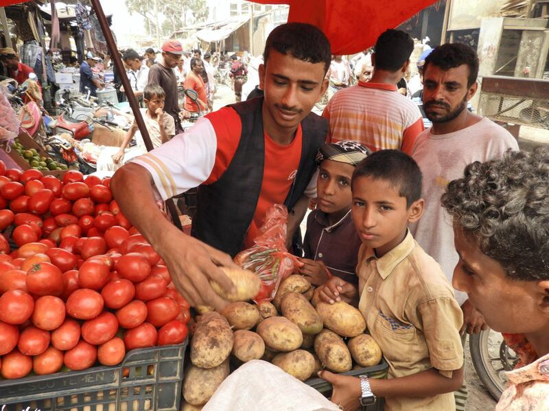
<svg viewBox="0 0 549 411">
<path fill-rule="evenodd" d="M 436 260 L 452 282 L 459 257 L 454 247 L 452 217 L 443 210 L 441 196 L 447 184 L 463 176 L 465 166 L 475 161 L 501 158 L 508 150 L 518 150 L 517 141 L 500 125 L 467 110 L 467 101 L 476 93 L 478 57 L 460 43 L 436 47 L 423 66 L 423 110 L 432 127 L 419 134 L 412 158 L 423 173 L 425 208 L 421 219 L 410 225 L 419 245 Z M 482 314 L 456 292 L 463 310 L 461 332 L 478 333 L 486 327 Z M 454 393 L 456 409 L 464 410 L 465 386 Z"/>
</svg>

